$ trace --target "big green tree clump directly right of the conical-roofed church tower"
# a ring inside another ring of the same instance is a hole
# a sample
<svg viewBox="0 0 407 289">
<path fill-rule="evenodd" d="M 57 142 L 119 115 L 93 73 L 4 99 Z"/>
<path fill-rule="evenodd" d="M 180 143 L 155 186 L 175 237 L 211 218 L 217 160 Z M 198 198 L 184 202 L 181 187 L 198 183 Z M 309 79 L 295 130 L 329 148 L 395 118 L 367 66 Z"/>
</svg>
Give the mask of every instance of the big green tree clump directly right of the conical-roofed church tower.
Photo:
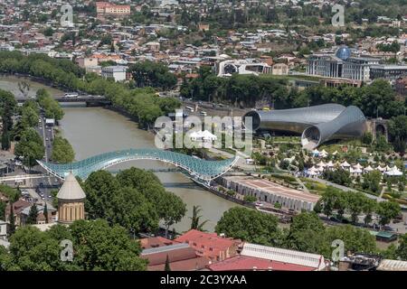
<svg viewBox="0 0 407 289">
<path fill-rule="evenodd" d="M 90 219 L 108 219 L 136 233 L 155 232 L 161 219 L 168 229 L 185 216 L 185 203 L 166 191 L 153 172 L 131 168 L 116 177 L 92 172 L 83 188 Z"/>
</svg>

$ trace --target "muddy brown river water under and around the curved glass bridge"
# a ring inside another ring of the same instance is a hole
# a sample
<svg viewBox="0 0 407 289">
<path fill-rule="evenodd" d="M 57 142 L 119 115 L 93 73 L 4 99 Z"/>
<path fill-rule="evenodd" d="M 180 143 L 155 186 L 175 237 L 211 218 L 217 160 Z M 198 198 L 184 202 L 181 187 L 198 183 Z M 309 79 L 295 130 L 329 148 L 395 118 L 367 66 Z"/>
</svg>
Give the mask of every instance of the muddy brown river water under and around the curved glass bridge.
<svg viewBox="0 0 407 289">
<path fill-rule="evenodd" d="M 61 122 L 62 135 L 72 144 L 76 160 L 95 154 L 108 153 L 128 148 L 154 147 L 154 135 L 137 128 L 137 124 L 118 113 L 101 107 L 64 107 L 65 116 Z M 169 167 L 158 161 L 134 161 L 120 163 L 109 168 L 117 171 L 135 166 L 142 169 Z M 236 204 L 223 200 L 209 191 L 204 191 L 181 172 L 155 172 L 168 191 L 173 191 L 186 203 L 185 218 L 174 228 L 177 232 L 188 230 L 194 205 L 202 208 L 203 220 L 209 221 L 204 228 L 213 231 L 216 222 L 225 210 Z"/>
</svg>

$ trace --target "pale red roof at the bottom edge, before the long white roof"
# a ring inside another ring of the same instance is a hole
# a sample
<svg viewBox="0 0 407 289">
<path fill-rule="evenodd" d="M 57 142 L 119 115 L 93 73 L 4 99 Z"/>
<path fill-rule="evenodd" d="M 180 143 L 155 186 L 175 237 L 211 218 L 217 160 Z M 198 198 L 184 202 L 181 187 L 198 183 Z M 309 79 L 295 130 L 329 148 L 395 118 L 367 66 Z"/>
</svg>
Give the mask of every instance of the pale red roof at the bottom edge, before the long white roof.
<svg viewBox="0 0 407 289">
<path fill-rule="evenodd" d="M 208 266 L 211 271 L 314 271 L 316 268 L 284 263 L 252 256 L 232 256 Z M 254 268 L 255 267 L 255 268 Z"/>
</svg>

